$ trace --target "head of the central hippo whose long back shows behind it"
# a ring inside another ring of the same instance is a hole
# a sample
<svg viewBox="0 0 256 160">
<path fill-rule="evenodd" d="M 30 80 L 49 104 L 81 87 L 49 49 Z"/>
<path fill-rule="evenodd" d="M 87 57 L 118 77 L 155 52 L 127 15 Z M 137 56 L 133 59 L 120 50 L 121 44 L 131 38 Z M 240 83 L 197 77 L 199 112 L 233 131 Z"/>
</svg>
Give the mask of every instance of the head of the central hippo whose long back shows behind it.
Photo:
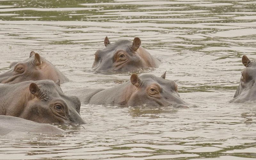
<svg viewBox="0 0 256 160">
<path fill-rule="evenodd" d="M 132 74 L 131 83 L 134 90 L 128 106 L 173 106 L 175 108 L 188 108 L 188 104 L 181 100 L 178 85 L 172 80 L 165 79 L 166 72 L 161 77 L 154 75 Z"/>
</svg>

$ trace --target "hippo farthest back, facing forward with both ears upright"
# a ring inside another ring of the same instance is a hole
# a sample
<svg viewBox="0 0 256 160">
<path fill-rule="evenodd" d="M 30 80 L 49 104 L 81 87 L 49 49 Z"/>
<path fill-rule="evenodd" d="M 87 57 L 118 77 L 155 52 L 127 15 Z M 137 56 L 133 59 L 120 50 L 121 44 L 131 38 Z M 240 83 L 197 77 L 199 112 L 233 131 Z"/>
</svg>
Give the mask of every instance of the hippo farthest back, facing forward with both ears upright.
<svg viewBox="0 0 256 160">
<path fill-rule="evenodd" d="M 126 39 L 110 43 L 105 38 L 106 48 L 96 51 L 92 69 L 100 71 L 132 71 L 143 67 L 157 68 L 160 61 L 140 46 L 140 38 L 133 42 Z"/>
</svg>

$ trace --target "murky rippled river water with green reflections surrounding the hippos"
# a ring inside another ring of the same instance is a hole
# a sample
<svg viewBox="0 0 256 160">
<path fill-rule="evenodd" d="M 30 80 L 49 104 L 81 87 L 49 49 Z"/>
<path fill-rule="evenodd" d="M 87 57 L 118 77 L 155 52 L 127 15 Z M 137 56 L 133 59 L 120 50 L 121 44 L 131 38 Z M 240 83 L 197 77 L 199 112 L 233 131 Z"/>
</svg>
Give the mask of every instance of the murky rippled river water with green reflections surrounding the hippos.
<svg viewBox="0 0 256 160">
<path fill-rule="evenodd" d="M 256 158 L 255 104 L 230 104 L 247 55 L 256 60 L 256 2 L 0 0 L 0 72 L 30 51 L 68 78 L 63 90 L 108 88 L 131 73 L 94 74 L 94 52 L 138 36 L 162 60 L 140 70 L 175 80 L 198 108 L 83 105 L 64 135 L 0 137 L 0 159 Z M 20 138 L 23 137 L 23 138 Z"/>
</svg>

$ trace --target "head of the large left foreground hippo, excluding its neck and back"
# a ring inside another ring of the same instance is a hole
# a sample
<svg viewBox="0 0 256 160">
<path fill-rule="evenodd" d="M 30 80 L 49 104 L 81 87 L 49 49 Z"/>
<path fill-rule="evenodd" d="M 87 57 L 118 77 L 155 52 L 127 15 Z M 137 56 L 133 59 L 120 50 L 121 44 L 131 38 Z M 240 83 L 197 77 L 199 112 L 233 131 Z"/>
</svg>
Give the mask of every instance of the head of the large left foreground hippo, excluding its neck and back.
<svg viewBox="0 0 256 160">
<path fill-rule="evenodd" d="M 23 82 L 24 83 L 24 82 Z M 21 118 L 39 123 L 85 124 L 80 116 L 81 102 L 76 96 L 66 96 L 52 80 L 28 81 Z"/>
</svg>

